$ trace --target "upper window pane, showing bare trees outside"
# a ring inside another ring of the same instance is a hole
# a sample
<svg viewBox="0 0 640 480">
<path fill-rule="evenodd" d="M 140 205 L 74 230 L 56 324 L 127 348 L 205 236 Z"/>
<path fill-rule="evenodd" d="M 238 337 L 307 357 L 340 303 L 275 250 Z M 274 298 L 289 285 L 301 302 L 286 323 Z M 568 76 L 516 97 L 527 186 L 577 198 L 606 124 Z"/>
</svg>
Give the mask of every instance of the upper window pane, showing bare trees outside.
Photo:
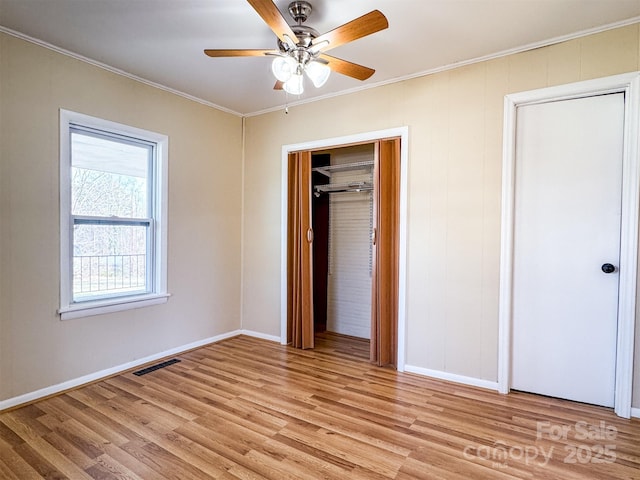
<svg viewBox="0 0 640 480">
<path fill-rule="evenodd" d="M 148 218 L 151 153 L 146 144 L 72 132 L 72 215 Z"/>
</svg>

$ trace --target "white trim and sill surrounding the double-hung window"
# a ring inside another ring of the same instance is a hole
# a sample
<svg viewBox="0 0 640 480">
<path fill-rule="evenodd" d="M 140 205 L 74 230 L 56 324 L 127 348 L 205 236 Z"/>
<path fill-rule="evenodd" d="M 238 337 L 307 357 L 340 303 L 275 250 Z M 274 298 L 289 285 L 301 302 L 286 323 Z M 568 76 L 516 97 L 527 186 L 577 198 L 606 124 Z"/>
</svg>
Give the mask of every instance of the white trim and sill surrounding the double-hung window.
<svg viewBox="0 0 640 480">
<path fill-rule="evenodd" d="M 127 297 L 73 302 L 71 259 L 73 257 L 71 222 L 71 151 L 70 125 L 79 124 L 120 135 L 141 138 L 156 143 L 156 172 L 152 176 L 155 193 L 154 291 Z M 89 115 L 60 109 L 60 308 L 61 320 L 118 312 L 165 303 L 167 292 L 167 195 L 169 138 L 148 130 L 130 127 Z"/>
</svg>

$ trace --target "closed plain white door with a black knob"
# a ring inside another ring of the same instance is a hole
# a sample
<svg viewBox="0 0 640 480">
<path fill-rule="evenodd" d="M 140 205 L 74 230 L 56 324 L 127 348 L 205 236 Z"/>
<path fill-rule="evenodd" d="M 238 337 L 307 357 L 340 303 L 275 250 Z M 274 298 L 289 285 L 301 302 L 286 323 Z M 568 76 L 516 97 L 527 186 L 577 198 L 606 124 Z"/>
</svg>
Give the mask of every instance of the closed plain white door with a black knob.
<svg viewBox="0 0 640 480">
<path fill-rule="evenodd" d="M 614 405 L 623 122 L 622 93 L 517 109 L 513 389 Z"/>
</svg>

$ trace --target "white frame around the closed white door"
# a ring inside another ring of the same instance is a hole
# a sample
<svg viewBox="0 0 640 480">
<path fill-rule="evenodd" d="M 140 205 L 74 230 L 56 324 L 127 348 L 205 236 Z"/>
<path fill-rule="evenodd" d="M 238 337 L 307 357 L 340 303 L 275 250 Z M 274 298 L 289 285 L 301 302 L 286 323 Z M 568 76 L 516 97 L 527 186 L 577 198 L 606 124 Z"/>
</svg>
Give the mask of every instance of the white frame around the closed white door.
<svg viewBox="0 0 640 480">
<path fill-rule="evenodd" d="M 515 138 L 519 106 L 571 100 L 608 93 L 624 93 L 622 158 L 622 215 L 620 228 L 620 284 L 616 351 L 615 413 L 631 417 L 633 354 L 638 270 L 638 202 L 640 199 L 640 72 L 626 73 L 556 87 L 515 93 L 504 99 L 502 161 L 502 234 L 500 248 L 500 304 L 498 318 L 498 390 L 511 387 L 513 324 L 513 229 L 515 220 Z M 627 268 L 628 267 L 628 268 Z"/>
</svg>

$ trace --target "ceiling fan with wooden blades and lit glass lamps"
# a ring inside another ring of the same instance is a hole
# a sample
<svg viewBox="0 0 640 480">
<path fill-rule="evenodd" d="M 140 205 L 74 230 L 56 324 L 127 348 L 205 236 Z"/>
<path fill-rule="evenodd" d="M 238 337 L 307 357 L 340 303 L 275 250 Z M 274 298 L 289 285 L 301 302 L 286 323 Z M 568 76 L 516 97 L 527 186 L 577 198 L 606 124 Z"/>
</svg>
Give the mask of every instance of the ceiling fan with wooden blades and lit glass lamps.
<svg viewBox="0 0 640 480">
<path fill-rule="evenodd" d="M 345 23 L 330 32 L 320 35 L 315 29 L 303 25 L 311 13 L 311 4 L 294 1 L 289 4 L 289 14 L 296 22 L 289 25 L 273 0 L 247 0 L 278 37 L 277 50 L 229 50 L 207 49 L 210 57 L 260 57 L 274 56 L 271 70 L 276 77 L 274 89 L 284 89 L 293 95 L 304 91 L 303 73 L 314 86 L 321 87 L 329 78 L 331 70 L 358 80 L 366 80 L 374 69 L 327 55 L 330 50 L 352 42 L 389 26 L 387 18 L 378 10 Z"/>
</svg>

